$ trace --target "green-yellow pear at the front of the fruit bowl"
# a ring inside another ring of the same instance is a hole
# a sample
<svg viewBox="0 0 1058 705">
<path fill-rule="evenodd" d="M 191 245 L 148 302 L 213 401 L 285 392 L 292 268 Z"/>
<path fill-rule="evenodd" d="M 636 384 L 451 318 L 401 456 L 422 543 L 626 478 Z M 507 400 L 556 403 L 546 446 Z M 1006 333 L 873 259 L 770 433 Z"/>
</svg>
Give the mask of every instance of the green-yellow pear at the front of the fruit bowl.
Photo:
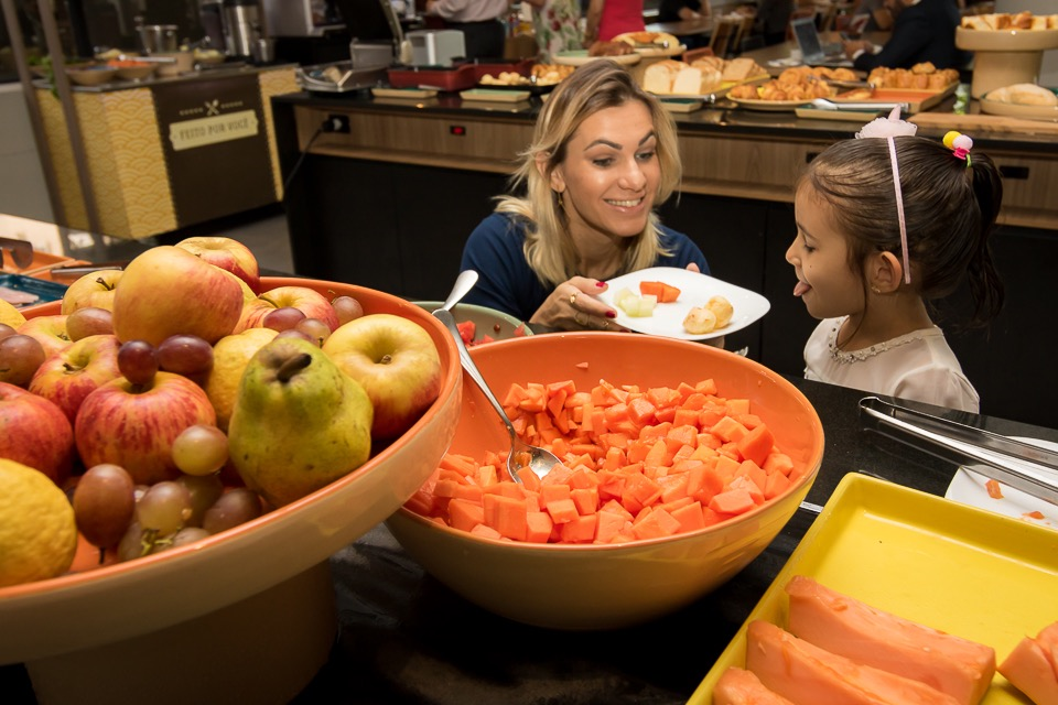
<svg viewBox="0 0 1058 705">
<path fill-rule="evenodd" d="M 242 373 L 228 424 L 231 464 L 274 507 L 352 473 L 370 456 L 374 409 L 316 345 L 274 338 Z"/>
</svg>

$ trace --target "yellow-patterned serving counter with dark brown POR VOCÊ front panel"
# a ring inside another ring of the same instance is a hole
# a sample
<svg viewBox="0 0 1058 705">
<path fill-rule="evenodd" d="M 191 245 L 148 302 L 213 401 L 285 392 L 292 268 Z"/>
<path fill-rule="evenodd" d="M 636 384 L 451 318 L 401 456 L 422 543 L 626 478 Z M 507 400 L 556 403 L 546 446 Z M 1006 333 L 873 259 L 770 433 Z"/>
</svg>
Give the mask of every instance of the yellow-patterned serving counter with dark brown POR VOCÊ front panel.
<svg viewBox="0 0 1058 705">
<path fill-rule="evenodd" d="M 65 221 L 144 238 L 282 198 L 270 98 L 298 90 L 294 66 L 238 66 L 75 87 L 83 149 L 63 104 L 35 82 L 47 156 Z"/>
</svg>

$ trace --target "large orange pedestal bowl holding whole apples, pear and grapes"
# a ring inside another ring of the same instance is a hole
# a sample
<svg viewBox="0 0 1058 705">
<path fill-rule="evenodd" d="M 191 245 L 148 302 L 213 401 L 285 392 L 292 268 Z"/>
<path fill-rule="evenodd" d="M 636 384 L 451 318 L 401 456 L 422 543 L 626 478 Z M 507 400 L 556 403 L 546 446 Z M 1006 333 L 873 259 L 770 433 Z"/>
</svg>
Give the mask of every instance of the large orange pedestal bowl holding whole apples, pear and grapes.
<svg viewBox="0 0 1058 705">
<path fill-rule="evenodd" d="M 94 684 L 108 681 L 115 693 L 133 701 L 138 694 L 140 702 L 220 702 L 226 693 L 227 702 L 289 699 L 326 659 L 336 629 L 327 557 L 400 507 L 447 448 L 460 414 L 460 362 L 435 318 L 349 284 L 287 278 L 262 284 L 348 294 L 365 313 L 414 321 L 440 352 L 440 397 L 354 473 L 256 520 L 93 570 L 98 552 L 82 541 L 68 574 L 0 589 L 0 664 L 25 662 L 42 701 L 87 702 Z M 58 305 L 25 313 L 52 315 Z M 261 668 L 262 649 L 276 668 Z M 45 698 L 50 688 L 54 698 Z"/>
</svg>

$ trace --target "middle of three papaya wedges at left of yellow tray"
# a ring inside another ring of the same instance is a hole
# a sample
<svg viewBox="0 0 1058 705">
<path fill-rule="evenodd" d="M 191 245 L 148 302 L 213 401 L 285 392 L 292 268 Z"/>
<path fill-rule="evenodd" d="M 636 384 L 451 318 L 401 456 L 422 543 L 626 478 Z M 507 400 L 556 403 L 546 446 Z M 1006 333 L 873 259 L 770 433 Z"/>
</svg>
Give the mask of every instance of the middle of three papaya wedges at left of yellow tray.
<svg viewBox="0 0 1058 705">
<path fill-rule="evenodd" d="M 935 687 L 856 663 L 762 619 L 746 630 L 746 668 L 795 703 L 956 705 Z"/>
</svg>

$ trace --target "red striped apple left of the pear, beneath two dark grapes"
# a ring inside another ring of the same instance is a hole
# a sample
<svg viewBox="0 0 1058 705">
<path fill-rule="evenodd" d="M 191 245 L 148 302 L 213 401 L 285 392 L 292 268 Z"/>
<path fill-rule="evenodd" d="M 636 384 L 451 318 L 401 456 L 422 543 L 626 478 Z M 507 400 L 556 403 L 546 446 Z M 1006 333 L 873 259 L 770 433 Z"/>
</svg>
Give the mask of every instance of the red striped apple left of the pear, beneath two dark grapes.
<svg viewBox="0 0 1058 705">
<path fill-rule="evenodd" d="M 153 485 L 180 477 L 172 448 L 184 429 L 216 423 L 201 387 L 186 377 L 159 372 L 150 384 L 120 377 L 85 397 L 74 438 L 86 467 L 112 463 L 137 484 Z"/>
</svg>

